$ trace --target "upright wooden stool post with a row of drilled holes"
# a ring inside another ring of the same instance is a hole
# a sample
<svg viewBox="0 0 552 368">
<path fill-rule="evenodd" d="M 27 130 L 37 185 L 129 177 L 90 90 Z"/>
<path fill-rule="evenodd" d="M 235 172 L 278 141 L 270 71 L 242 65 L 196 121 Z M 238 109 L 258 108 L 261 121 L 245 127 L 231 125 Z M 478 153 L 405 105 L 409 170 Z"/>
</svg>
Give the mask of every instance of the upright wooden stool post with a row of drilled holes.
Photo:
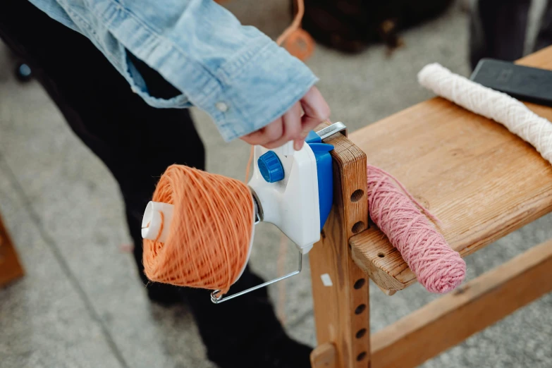
<svg viewBox="0 0 552 368">
<path fill-rule="evenodd" d="M 366 155 L 343 135 L 325 142 L 335 147 L 334 202 L 321 240 L 309 253 L 319 345 L 311 360 L 313 367 L 365 368 L 370 366 L 369 280 L 350 257 L 349 238 L 368 224 Z"/>
</svg>

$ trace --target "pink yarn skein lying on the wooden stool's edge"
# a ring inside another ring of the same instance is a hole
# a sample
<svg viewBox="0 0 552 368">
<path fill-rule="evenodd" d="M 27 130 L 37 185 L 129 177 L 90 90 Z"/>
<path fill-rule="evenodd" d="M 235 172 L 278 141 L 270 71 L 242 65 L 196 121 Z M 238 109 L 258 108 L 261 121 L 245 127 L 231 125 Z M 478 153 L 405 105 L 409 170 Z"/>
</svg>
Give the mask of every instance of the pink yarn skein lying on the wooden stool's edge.
<svg viewBox="0 0 552 368">
<path fill-rule="evenodd" d="M 368 165 L 368 205 L 372 221 L 387 235 L 424 288 L 431 293 L 448 293 L 462 283 L 466 263 L 424 214 L 438 222 L 435 216 L 391 174 L 372 165 Z"/>
</svg>

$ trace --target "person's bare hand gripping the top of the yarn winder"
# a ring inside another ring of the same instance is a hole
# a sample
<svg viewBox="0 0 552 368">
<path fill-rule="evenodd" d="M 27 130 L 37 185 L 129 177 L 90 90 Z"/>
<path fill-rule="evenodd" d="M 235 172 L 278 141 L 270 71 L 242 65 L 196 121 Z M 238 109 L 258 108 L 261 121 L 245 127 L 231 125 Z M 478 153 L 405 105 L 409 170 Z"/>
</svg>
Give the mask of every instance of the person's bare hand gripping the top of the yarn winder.
<svg viewBox="0 0 552 368">
<path fill-rule="evenodd" d="M 329 116 L 330 108 L 326 100 L 317 87 L 312 87 L 286 114 L 241 139 L 250 145 L 261 145 L 268 149 L 280 147 L 293 140 L 293 148 L 298 151 L 305 143 L 309 131 L 326 121 Z"/>
</svg>

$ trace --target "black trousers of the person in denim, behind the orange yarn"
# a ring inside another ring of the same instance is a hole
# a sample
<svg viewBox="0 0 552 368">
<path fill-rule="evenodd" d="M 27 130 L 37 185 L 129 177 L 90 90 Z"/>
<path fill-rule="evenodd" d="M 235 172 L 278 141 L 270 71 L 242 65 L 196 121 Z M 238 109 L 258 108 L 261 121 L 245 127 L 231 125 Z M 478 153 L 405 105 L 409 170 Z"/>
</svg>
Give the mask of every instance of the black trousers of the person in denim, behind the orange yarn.
<svg viewBox="0 0 552 368">
<path fill-rule="evenodd" d="M 166 167 L 174 163 L 204 168 L 204 147 L 190 113 L 147 105 L 92 42 L 28 1 L 0 2 L 0 37 L 31 66 L 70 128 L 116 178 L 134 240 L 137 274 L 147 283 L 140 228 L 155 184 Z M 160 75 L 135 62 L 152 94 L 168 97 L 178 93 Z M 233 289 L 258 283 L 262 280 L 247 269 Z M 261 351 L 266 344 L 285 336 L 266 289 L 214 305 L 209 290 L 161 284 L 150 284 L 148 288 L 152 298 L 188 302 L 209 358 L 219 364 L 226 362 L 221 364 L 224 367 L 233 367 L 229 365 L 233 359 L 240 362 L 236 367 L 245 367 L 244 355 Z"/>
</svg>

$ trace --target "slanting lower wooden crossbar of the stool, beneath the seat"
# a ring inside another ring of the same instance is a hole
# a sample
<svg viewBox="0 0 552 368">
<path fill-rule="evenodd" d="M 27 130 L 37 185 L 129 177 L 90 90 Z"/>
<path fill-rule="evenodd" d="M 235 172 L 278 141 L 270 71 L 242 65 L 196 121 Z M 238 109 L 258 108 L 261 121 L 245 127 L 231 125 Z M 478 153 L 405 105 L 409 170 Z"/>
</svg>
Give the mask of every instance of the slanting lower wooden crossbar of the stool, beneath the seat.
<svg viewBox="0 0 552 368">
<path fill-rule="evenodd" d="M 552 240 L 372 335 L 372 368 L 417 367 L 552 291 Z"/>
</svg>

